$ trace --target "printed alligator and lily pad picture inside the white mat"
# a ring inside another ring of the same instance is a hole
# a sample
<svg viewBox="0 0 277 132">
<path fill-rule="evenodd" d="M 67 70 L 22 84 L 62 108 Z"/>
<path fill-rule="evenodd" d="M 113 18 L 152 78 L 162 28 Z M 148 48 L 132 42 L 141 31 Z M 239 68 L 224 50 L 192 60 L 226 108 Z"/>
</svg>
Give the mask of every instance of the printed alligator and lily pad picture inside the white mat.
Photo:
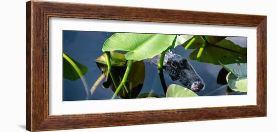
<svg viewBox="0 0 277 132">
<path fill-rule="evenodd" d="M 247 37 L 63 30 L 60 57 L 62 101 L 247 95 Z"/>
</svg>

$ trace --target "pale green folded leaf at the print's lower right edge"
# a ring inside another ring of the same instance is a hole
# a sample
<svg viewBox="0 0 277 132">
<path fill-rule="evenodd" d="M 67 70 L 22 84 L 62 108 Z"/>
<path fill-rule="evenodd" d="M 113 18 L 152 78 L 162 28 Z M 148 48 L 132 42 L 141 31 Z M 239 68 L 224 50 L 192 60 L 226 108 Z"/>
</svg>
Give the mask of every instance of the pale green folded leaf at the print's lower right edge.
<svg viewBox="0 0 277 132">
<path fill-rule="evenodd" d="M 247 63 L 222 64 L 228 72 L 226 80 L 233 91 L 247 92 Z"/>
</svg>

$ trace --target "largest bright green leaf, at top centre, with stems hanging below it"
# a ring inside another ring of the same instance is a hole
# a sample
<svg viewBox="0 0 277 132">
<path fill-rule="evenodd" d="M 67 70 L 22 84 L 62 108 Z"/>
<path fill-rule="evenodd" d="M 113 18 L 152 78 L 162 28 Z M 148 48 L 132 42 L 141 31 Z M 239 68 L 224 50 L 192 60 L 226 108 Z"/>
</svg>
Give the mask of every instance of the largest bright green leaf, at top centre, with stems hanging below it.
<svg viewBox="0 0 277 132">
<path fill-rule="evenodd" d="M 178 37 L 179 36 L 179 37 Z M 186 41 L 190 39 L 192 36 L 181 36 L 181 35 L 165 35 L 165 34 L 137 34 L 137 33 L 115 33 L 110 38 L 108 38 L 103 45 L 103 52 L 109 54 L 109 51 L 127 51 L 124 56 L 128 60 L 128 65 L 123 76 L 122 81 L 116 88 L 112 99 L 118 95 L 122 86 L 126 82 L 129 74 L 129 70 L 131 69 L 131 65 L 133 60 L 143 60 L 148 58 L 153 58 L 156 55 L 161 54 L 160 61 L 158 64 L 158 69 L 164 92 L 166 93 L 165 82 L 163 79 L 162 67 L 164 63 L 165 53 L 182 44 L 182 41 Z M 178 40 L 177 40 L 178 39 Z M 109 55 L 107 55 L 107 59 Z M 108 65 L 111 63 L 108 62 Z M 109 69 L 109 73 L 111 69 Z M 112 78 L 112 80 L 115 80 Z M 113 81 L 115 82 L 115 81 Z"/>
</svg>

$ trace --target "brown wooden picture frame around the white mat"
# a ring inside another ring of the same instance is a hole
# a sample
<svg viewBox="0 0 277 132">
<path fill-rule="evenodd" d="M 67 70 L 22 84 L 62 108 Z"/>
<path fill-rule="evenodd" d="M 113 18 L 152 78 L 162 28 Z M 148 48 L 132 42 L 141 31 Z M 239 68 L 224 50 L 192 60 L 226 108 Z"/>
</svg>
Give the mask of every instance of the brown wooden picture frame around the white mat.
<svg viewBox="0 0 277 132">
<path fill-rule="evenodd" d="M 27 2 L 26 13 L 27 130 L 40 131 L 266 116 L 266 16 L 42 1 Z M 49 17 L 256 27 L 257 105 L 49 115 Z"/>
</svg>

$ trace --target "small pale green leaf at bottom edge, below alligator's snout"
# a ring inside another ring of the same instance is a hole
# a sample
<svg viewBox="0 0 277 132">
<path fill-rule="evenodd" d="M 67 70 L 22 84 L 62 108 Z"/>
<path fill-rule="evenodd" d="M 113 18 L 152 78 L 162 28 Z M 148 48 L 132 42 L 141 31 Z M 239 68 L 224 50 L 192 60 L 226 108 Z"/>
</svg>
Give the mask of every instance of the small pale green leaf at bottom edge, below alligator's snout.
<svg viewBox="0 0 277 132">
<path fill-rule="evenodd" d="M 184 88 L 177 84 L 171 84 L 168 86 L 166 97 L 195 97 L 196 93 L 188 88 Z"/>
</svg>

